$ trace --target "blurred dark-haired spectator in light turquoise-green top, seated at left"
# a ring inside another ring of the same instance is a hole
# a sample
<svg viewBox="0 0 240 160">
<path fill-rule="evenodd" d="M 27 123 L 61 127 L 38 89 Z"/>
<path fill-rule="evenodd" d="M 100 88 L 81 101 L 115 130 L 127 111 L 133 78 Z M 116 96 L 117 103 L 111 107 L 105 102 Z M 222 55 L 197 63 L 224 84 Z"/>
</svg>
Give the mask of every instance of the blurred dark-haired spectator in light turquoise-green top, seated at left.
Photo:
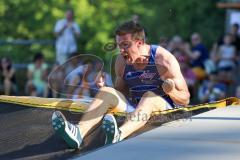
<svg viewBox="0 0 240 160">
<path fill-rule="evenodd" d="M 34 56 L 33 63 L 28 65 L 26 92 L 30 96 L 47 97 L 47 64 L 42 53 Z"/>
</svg>

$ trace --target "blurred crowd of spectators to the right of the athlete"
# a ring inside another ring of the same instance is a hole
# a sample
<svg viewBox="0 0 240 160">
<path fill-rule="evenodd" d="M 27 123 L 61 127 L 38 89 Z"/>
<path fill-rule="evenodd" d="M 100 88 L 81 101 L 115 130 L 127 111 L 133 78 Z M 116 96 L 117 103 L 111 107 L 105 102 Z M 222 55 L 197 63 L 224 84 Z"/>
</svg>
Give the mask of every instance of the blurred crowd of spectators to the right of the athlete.
<svg viewBox="0 0 240 160">
<path fill-rule="evenodd" d="M 178 60 L 191 92 L 192 101 L 201 103 L 238 96 L 240 37 L 239 25 L 233 24 L 229 33 L 220 36 L 209 50 L 199 33 L 190 42 L 180 36 L 160 38 L 159 44 Z"/>
</svg>

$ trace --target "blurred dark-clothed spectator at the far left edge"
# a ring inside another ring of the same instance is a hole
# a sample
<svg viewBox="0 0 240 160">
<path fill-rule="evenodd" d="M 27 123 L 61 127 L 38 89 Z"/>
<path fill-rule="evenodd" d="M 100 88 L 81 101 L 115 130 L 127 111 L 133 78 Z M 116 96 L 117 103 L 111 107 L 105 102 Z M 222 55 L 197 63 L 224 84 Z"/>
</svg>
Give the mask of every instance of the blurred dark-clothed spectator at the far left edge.
<svg viewBox="0 0 240 160">
<path fill-rule="evenodd" d="M 16 94 L 17 85 L 15 69 L 9 58 L 3 57 L 0 65 L 0 92 L 5 95 Z"/>
</svg>

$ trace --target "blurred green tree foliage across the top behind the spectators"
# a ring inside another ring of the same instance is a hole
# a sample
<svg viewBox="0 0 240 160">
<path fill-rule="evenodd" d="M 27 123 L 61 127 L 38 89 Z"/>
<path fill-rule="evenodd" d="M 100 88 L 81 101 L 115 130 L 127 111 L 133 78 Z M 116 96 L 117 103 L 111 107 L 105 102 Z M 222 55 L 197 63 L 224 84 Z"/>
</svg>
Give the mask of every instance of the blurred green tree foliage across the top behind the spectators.
<svg viewBox="0 0 240 160">
<path fill-rule="evenodd" d="M 56 21 L 64 18 L 66 8 L 71 7 L 82 30 L 78 41 L 80 53 L 96 54 L 106 61 L 113 53 L 106 53 L 104 44 L 114 40 L 115 27 L 130 20 L 133 14 L 140 15 L 150 42 L 158 43 L 160 36 L 176 34 L 188 39 L 192 32 L 200 32 L 210 45 L 224 27 L 224 12 L 215 3 L 215 0 L 1 0 L 0 39 L 54 40 Z M 8 55 L 18 63 L 29 62 L 39 50 L 48 61 L 54 61 L 54 45 L 1 45 L 0 56 Z"/>
</svg>

